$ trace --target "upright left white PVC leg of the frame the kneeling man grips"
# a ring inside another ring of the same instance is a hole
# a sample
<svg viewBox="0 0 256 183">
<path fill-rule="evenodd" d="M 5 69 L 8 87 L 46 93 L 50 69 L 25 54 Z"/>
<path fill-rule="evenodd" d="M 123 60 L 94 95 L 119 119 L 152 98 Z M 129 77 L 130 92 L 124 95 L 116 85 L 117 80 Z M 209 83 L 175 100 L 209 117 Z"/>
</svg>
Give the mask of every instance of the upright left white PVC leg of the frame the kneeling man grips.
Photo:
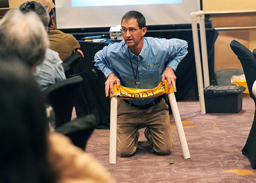
<svg viewBox="0 0 256 183">
<path fill-rule="evenodd" d="M 116 164 L 117 96 L 110 99 L 109 164 Z"/>
</svg>

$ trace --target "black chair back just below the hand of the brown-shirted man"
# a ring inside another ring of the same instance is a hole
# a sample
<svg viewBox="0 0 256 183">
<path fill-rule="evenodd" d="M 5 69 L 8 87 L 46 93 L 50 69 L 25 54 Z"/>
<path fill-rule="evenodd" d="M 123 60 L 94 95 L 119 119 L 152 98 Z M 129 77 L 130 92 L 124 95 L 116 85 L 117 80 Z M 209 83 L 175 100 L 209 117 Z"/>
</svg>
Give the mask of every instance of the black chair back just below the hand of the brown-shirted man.
<svg viewBox="0 0 256 183">
<path fill-rule="evenodd" d="M 64 69 L 66 78 L 69 78 L 71 75 L 73 75 L 73 69 L 80 59 L 80 53 L 75 52 L 61 64 Z"/>
</svg>

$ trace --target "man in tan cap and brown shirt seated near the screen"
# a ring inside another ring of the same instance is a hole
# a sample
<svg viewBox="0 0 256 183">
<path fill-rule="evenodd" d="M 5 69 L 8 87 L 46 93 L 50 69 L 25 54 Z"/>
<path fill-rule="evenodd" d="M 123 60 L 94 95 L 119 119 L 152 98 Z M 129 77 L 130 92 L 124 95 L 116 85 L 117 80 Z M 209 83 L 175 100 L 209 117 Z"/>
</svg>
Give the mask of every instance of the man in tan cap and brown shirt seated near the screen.
<svg viewBox="0 0 256 183">
<path fill-rule="evenodd" d="M 81 58 L 84 57 L 83 52 L 80 50 L 80 44 L 76 38 L 71 34 L 65 34 L 64 32 L 56 29 L 56 16 L 53 8 L 54 3 L 50 0 L 34 0 L 41 3 L 50 15 L 50 23 L 48 25 L 48 36 L 50 40 L 50 49 L 59 53 L 60 59 L 65 61 L 73 52 L 78 52 Z"/>
</svg>

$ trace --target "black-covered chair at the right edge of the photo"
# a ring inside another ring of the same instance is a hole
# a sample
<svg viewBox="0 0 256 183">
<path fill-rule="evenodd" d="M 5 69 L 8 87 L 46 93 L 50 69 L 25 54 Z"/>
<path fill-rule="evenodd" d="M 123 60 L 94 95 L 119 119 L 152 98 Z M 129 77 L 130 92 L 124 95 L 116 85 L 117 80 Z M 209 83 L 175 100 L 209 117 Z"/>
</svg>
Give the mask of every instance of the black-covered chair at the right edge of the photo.
<svg viewBox="0 0 256 183">
<path fill-rule="evenodd" d="M 254 100 L 256 106 L 256 98 L 252 93 L 252 85 L 256 80 L 256 59 L 252 52 L 248 50 L 243 44 L 236 40 L 230 43 L 230 47 L 237 55 L 244 69 L 244 75 L 248 86 L 250 97 Z M 247 138 L 247 141 L 242 149 L 242 153 L 248 157 L 251 162 L 252 168 L 256 169 L 256 109 L 254 112 L 254 119 L 252 128 Z"/>
</svg>

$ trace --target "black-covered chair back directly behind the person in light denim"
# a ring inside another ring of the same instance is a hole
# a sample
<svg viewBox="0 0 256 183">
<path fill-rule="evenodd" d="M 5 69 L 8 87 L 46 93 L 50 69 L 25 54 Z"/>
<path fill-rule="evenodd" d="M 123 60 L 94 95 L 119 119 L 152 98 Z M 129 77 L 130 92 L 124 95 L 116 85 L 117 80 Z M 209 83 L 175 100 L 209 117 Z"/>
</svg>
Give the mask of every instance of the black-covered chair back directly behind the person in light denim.
<svg viewBox="0 0 256 183">
<path fill-rule="evenodd" d="M 47 103 L 55 112 L 55 127 L 71 120 L 78 87 L 83 82 L 81 76 L 74 76 L 52 84 L 43 91 Z"/>
</svg>

